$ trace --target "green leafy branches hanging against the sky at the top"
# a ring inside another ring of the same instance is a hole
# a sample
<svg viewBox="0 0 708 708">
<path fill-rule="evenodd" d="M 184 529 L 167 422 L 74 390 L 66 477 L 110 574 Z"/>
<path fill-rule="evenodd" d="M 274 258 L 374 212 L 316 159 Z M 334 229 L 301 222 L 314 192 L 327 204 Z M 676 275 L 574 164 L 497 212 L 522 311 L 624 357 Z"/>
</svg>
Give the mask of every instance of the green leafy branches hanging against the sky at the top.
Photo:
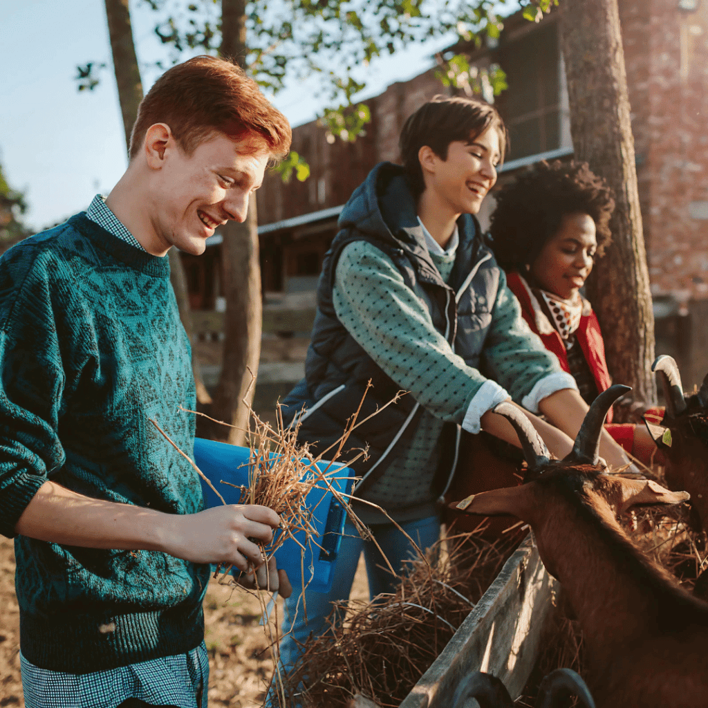
<svg viewBox="0 0 708 708">
<path fill-rule="evenodd" d="M 154 32 L 176 64 L 184 52 L 218 54 L 222 46 L 221 0 L 141 0 L 156 13 Z M 353 142 L 371 120 L 365 71 L 377 57 L 393 55 L 416 42 L 453 33 L 460 45 L 481 47 L 498 39 L 504 13 L 523 8 L 539 21 L 559 0 L 251 0 L 245 4 L 246 70 L 266 91 L 277 93 L 292 79 L 319 76 L 316 96 L 328 107 L 319 115 L 327 139 Z M 496 64 L 480 69 L 455 50 L 438 55 L 443 86 L 468 96 L 494 96 L 507 88 Z M 162 62 L 156 62 L 165 68 Z M 105 64 L 77 68 L 79 91 L 93 90 Z M 302 156 L 281 173 L 304 179 Z"/>
</svg>

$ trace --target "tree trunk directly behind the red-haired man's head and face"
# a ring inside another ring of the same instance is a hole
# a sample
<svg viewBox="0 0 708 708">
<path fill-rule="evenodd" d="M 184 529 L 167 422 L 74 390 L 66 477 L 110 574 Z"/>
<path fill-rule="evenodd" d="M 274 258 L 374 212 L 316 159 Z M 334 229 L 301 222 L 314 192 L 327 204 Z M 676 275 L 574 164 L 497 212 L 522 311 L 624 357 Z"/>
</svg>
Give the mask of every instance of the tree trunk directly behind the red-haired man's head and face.
<svg viewBox="0 0 708 708">
<path fill-rule="evenodd" d="M 222 0 L 222 45 L 219 54 L 245 68 L 246 52 L 246 2 Z M 237 426 L 230 429 L 228 440 L 233 445 L 241 445 L 249 423 L 249 406 L 253 401 L 253 377 L 258 374 L 261 356 L 261 265 L 258 261 L 255 195 L 249 200 L 246 221 L 243 224 L 229 222 L 222 234 L 226 292 L 224 353 L 212 414 L 219 421 Z M 225 435 L 226 430 L 224 428 L 221 435 Z"/>
</svg>

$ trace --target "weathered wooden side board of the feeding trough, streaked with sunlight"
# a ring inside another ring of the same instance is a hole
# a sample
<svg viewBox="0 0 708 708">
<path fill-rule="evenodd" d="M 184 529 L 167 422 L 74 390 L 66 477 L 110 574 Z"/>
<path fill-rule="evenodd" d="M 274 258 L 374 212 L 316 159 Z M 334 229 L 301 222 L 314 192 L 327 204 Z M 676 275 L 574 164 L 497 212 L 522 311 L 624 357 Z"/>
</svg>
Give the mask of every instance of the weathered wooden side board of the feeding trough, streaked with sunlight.
<svg viewBox="0 0 708 708">
<path fill-rule="evenodd" d="M 559 583 L 528 535 L 400 708 L 443 708 L 472 671 L 501 678 L 513 698 L 526 684 Z"/>
</svg>

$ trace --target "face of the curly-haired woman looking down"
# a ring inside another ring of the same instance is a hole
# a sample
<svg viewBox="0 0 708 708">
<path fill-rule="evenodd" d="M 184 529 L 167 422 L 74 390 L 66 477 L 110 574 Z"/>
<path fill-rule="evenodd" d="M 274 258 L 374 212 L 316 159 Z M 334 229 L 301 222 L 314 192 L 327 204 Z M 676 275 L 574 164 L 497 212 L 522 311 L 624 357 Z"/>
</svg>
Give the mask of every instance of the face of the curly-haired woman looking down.
<svg viewBox="0 0 708 708">
<path fill-rule="evenodd" d="M 595 222 L 587 214 L 568 214 L 531 264 L 531 274 L 548 292 L 572 299 L 593 270 L 598 249 Z"/>
</svg>

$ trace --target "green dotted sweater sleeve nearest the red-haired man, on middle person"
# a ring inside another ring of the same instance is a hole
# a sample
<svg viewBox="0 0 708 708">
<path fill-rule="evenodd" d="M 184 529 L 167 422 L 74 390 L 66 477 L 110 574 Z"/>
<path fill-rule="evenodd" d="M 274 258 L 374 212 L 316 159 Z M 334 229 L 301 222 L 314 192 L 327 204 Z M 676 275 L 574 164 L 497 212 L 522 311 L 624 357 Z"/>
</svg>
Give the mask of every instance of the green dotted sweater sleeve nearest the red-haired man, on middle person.
<svg viewBox="0 0 708 708">
<path fill-rule="evenodd" d="M 382 251 L 365 241 L 343 249 L 333 304 L 339 321 L 401 389 L 434 416 L 462 423 L 486 378 L 455 354 Z"/>
</svg>

